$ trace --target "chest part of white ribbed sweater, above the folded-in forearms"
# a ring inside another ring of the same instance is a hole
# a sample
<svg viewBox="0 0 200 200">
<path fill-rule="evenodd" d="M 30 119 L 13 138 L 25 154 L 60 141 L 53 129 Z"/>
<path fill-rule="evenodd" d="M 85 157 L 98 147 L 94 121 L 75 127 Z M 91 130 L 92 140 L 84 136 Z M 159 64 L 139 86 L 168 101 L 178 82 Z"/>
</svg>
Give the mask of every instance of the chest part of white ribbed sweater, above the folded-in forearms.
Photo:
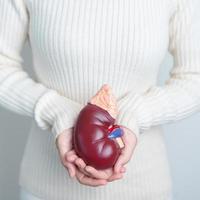
<svg viewBox="0 0 200 200">
<path fill-rule="evenodd" d="M 103 83 L 117 98 L 156 84 L 173 0 L 25 2 L 38 81 L 81 103 Z"/>
</svg>

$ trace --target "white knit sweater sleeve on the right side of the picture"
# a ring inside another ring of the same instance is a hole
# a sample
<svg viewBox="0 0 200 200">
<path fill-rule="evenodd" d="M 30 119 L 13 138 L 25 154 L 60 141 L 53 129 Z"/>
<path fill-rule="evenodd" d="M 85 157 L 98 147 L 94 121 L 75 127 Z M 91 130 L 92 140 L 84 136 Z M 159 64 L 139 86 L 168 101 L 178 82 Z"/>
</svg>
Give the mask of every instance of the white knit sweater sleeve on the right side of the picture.
<svg viewBox="0 0 200 200">
<path fill-rule="evenodd" d="M 178 0 L 169 21 L 168 50 L 174 58 L 164 86 L 128 92 L 118 100 L 118 124 L 137 136 L 152 126 L 172 123 L 200 110 L 200 1 Z"/>
</svg>

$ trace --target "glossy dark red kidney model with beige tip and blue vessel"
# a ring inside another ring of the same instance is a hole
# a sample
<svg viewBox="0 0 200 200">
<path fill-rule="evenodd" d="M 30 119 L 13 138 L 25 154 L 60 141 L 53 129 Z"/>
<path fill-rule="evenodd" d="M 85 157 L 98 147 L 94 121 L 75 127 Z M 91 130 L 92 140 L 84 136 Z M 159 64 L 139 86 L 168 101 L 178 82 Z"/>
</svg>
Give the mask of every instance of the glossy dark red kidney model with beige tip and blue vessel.
<svg viewBox="0 0 200 200">
<path fill-rule="evenodd" d="M 73 146 L 87 165 L 96 169 L 112 167 L 124 147 L 123 130 L 114 124 L 117 102 L 104 84 L 80 111 L 73 131 Z"/>
</svg>

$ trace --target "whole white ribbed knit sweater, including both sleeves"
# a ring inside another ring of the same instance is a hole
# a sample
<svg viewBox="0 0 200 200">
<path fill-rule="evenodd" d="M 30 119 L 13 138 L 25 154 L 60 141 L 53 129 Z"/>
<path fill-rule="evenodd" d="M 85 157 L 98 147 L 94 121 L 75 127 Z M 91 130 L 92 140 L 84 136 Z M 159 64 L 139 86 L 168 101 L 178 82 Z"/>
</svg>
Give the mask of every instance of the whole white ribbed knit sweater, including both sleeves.
<svg viewBox="0 0 200 200">
<path fill-rule="evenodd" d="M 0 105 L 32 117 L 20 185 L 46 200 L 168 200 L 161 124 L 200 108 L 199 0 L 0 0 Z M 29 40 L 37 80 L 23 70 Z M 166 51 L 174 67 L 157 86 Z M 137 134 L 124 178 L 87 187 L 68 177 L 55 138 L 108 83 L 117 124 Z"/>
</svg>

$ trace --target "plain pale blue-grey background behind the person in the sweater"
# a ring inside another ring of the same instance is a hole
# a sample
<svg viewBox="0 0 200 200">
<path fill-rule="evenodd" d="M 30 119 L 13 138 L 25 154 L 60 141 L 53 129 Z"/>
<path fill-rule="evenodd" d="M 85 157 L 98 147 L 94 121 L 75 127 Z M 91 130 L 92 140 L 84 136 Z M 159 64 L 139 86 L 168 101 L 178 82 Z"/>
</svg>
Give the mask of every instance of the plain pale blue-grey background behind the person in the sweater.
<svg viewBox="0 0 200 200">
<path fill-rule="evenodd" d="M 24 69 L 34 78 L 31 49 L 26 43 Z M 173 59 L 167 53 L 160 67 L 158 85 L 169 78 Z M 184 101 L 184 99 L 183 99 Z M 0 107 L 0 200 L 18 200 L 18 174 L 30 118 Z M 173 178 L 174 200 L 200 199 L 200 113 L 164 125 L 165 139 Z"/>
</svg>

